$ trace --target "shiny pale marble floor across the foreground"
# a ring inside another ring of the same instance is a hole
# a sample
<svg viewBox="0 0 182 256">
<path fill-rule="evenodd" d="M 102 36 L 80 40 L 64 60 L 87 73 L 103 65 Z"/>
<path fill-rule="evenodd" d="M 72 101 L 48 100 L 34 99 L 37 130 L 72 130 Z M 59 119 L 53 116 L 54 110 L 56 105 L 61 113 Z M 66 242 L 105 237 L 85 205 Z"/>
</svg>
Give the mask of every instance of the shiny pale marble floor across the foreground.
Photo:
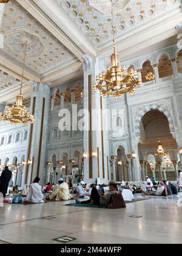
<svg viewBox="0 0 182 256">
<path fill-rule="evenodd" d="M 5 205 L 0 207 L 0 244 L 60 243 L 54 241 L 60 236 L 76 238 L 69 244 L 182 243 L 178 200 L 156 197 L 118 210 L 67 206 L 67 202 Z"/>
</svg>

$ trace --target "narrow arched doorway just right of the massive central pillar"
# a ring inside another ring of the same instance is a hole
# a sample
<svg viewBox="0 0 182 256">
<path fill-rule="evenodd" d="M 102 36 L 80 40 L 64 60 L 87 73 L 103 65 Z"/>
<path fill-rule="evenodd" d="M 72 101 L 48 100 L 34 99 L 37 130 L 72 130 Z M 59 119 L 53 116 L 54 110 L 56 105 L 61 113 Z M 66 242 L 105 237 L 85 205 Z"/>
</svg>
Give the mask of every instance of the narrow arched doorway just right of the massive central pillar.
<svg viewBox="0 0 182 256">
<path fill-rule="evenodd" d="M 129 180 L 128 170 L 126 166 L 127 158 L 123 146 L 120 146 L 117 150 L 117 159 L 116 159 L 116 180 Z"/>
</svg>

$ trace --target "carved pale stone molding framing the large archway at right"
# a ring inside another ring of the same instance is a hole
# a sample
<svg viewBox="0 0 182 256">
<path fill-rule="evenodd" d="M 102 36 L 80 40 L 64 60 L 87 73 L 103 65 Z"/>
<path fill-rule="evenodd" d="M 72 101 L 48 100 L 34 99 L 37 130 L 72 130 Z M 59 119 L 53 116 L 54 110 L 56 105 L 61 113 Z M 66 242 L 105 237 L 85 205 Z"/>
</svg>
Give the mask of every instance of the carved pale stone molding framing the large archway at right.
<svg viewBox="0 0 182 256">
<path fill-rule="evenodd" d="M 136 107 L 134 110 L 134 118 L 135 118 L 135 136 L 140 139 L 140 121 L 143 116 L 149 112 L 150 110 L 158 110 L 163 113 L 167 120 L 169 121 L 169 129 L 170 133 L 172 133 L 175 138 L 175 127 L 174 120 L 171 115 L 171 107 L 169 102 L 161 101 L 150 105 L 141 105 L 140 107 Z"/>
</svg>

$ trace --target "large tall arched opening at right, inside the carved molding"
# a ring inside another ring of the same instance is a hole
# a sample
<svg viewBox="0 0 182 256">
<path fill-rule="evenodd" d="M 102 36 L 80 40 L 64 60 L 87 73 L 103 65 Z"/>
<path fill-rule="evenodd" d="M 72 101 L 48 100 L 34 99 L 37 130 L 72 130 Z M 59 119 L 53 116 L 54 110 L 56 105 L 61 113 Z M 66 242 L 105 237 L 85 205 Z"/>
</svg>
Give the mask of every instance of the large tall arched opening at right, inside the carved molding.
<svg viewBox="0 0 182 256">
<path fill-rule="evenodd" d="M 138 151 L 140 154 L 140 161 L 146 162 L 146 173 L 153 175 L 152 168 L 149 165 L 149 155 L 155 155 L 158 149 L 158 141 L 161 141 L 165 151 L 172 156 L 172 162 L 177 161 L 177 141 L 170 133 L 169 121 L 157 109 L 147 112 L 140 121 L 140 143 L 138 144 Z M 153 160 L 154 161 L 154 160 Z M 155 155 L 155 177 L 160 180 L 161 177 L 167 180 L 176 179 L 176 170 L 174 165 L 166 166 L 164 158 Z"/>
</svg>

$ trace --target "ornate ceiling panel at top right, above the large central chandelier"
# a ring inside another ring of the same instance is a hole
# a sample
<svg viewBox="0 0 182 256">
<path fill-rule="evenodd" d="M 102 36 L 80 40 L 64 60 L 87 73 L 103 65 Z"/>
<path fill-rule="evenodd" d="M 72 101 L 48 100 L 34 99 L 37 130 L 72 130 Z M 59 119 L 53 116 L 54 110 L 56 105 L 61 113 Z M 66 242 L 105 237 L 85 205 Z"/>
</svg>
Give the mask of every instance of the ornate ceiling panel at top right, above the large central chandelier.
<svg viewBox="0 0 182 256">
<path fill-rule="evenodd" d="M 38 0 L 36 0 L 38 2 Z M 112 16 L 109 0 L 51 0 L 83 33 L 95 48 L 112 38 Z M 113 2 L 116 37 L 178 9 L 180 0 L 115 0 Z M 74 26 L 73 26 L 74 27 Z"/>
</svg>

